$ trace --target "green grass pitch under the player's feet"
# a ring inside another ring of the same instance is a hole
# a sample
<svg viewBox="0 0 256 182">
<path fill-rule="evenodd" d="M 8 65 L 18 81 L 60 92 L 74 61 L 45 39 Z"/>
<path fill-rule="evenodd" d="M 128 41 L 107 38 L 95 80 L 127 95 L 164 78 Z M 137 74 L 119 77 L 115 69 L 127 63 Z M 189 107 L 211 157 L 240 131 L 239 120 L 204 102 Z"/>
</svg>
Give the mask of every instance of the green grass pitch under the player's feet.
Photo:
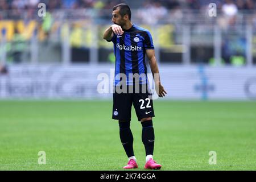
<svg viewBox="0 0 256 182">
<path fill-rule="evenodd" d="M 256 170 L 256 102 L 157 100 L 154 110 L 162 170 Z M 142 126 L 132 115 L 142 170 Z M 122 170 L 127 157 L 111 117 L 111 101 L 0 101 L 0 170 Z"/>
</svg>

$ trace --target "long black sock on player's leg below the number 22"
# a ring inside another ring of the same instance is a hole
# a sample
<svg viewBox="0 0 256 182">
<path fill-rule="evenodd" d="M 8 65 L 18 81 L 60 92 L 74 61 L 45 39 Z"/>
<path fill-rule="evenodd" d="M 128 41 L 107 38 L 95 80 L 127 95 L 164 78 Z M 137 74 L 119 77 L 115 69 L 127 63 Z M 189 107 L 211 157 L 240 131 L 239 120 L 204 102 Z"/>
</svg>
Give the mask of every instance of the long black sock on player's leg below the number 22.
<svg viewBox="0 0 256 182">
<path fill-rule="evenodd" d="M 154 143 L 155 143 L 153 122 L 152 120 L 143 121 L 141 122 L 141 125 L 142 125 L 142 142 L 145 146 L 146 156 L 153 155 Z"/>
</svg>

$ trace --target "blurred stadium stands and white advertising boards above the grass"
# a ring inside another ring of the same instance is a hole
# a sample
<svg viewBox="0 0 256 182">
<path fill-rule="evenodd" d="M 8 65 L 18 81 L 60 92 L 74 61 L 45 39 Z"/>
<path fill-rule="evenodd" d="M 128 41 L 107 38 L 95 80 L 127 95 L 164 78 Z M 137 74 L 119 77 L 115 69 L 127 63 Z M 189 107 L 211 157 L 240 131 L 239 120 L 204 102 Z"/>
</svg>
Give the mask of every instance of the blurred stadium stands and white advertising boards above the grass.
<svg viewBox="0 0 256 182">
<path fill-rule="evenodd" d="M 97 75 L 114 68 L 102 34 L 119 2 L 152 32 L 167 98 L 255 100 L 253 0 L 1 0 L 0 98 L 111 98 L 96 92 Z"/>
</svg>

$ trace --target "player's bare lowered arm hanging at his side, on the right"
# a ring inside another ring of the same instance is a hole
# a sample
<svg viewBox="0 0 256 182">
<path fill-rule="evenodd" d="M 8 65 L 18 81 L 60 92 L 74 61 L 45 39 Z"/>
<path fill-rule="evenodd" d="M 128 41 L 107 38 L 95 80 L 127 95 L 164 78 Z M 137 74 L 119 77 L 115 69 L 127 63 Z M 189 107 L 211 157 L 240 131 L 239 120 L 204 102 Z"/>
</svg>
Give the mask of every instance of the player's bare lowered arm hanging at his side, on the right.
<svg viewBox="0 0 256 182">
<path fill-rule="evenodd" d="M 158 92 L 159 97 L 164 97 L 165 94 L 167 94 L 167 92 L 166 92 L 166 90 L 164 90 L 163 85 L 161 84 L 161 81 L 160 81 L 158 64 L 156 63 L 156 58 L 155 58 L 155 50 L 154 49 L 146 49 L 146 54 L 149 59 L 150 69 L 151 69 L 151 72 L 152 72 L 154 80 L 155 80 L 155 86 L 158 87 L 158 89 L 156 89 L 156 92 Z M 155 75 L 155 73 L 156 73 L 156 75 Z M 158 76 L 158 77 L 155 78 L 155 76 Z"/>
</svg>

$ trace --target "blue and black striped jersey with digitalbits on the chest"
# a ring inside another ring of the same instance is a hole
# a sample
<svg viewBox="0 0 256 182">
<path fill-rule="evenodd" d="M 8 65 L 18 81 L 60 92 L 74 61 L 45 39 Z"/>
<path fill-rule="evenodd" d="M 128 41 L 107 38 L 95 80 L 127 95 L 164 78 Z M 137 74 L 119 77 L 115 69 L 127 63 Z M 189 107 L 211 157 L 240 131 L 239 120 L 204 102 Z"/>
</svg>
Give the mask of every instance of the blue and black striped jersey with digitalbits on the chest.
<svg viewBox="0 0 256 182">
<path fill-rule="evenodd" d="M 113 36 L 115 54 L 115 80 L 114 85 L 119 85 L 120 73 L 126 75 L 126 84 L 146 84 L 147 68 L 145 63 L 146 49 L 154 49 L 150 32 L 133 24 L 129 30 L 123 30 L 125 34 Z M 109 41 L 109 42 L 110 42 Z M 139 79 L 134 78 L 134 74 Z"/>
</svg>

